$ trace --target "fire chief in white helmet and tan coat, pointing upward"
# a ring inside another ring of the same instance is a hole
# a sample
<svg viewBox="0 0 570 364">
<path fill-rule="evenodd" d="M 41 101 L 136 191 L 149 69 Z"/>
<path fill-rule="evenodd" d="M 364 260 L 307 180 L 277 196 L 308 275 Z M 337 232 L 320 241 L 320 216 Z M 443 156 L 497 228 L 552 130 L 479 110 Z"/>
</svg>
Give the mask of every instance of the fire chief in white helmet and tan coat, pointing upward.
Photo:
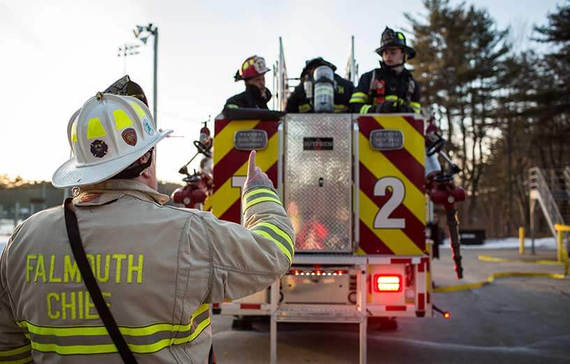
<svg viewBox="0 0 570 364">
<path fill-rule="evenodd" d="M 141 363 L 206 363 L 208 303 L 265 289 L 294 255 L 291 221 L 255 151 L 241 226 L 164 205 L 154 148 L 172 130 L 156 130 L 140 100 L 97 93 L 71 129 L 73 158 L 52 184 L 73 187 L 73 199 L 18 225 L 0 258 L 0 361 L 121 363 L 130 352 Z"/>
</svg>

